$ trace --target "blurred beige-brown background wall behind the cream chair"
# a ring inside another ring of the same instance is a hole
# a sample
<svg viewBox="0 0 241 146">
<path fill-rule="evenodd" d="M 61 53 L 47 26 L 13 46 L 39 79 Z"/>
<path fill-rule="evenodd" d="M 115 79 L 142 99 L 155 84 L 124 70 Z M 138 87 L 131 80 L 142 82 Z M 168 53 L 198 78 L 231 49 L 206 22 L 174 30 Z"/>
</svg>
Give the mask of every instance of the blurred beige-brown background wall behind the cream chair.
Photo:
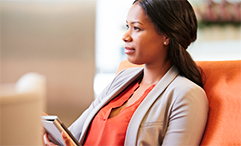
<svg viewBox="0 0 241 146">
<path fill-rule="evenodd" d="M 44 111 L 66 125 L 94 99 L 95 0 L 1 1 L 0 83 L 46 76 Z"/>
</svg>

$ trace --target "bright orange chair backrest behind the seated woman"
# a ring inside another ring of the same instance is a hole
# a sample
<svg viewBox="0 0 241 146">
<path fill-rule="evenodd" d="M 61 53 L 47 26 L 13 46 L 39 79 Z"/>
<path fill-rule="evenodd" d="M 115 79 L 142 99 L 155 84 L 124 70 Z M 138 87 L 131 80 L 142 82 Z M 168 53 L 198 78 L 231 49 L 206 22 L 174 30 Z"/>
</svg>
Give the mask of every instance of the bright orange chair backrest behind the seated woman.
<svg viewBox="0 0 241 146">
<path fill-rule="evenodd" d="M 241 60 L 196 63 L 205 74 L 204 90 L 209 100 L 201 145 L 241 145 Z M 130 67 L 138 66 L 125 60 L 117 72 Z"/>
</svg>

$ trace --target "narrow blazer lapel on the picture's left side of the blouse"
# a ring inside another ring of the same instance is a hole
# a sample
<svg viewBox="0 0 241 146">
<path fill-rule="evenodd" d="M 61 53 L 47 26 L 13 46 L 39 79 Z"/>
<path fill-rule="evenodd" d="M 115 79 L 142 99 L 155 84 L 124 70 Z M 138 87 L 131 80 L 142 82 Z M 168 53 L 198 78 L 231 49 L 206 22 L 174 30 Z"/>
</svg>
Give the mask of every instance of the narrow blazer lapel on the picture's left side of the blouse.
<svg viewBox="0 0 241 146">
<path fill-rule="evenodd" d="M 94 118 L 94 116 L 97 114 L 97 112 L 105 105 L 107 104 L 110 100 L 112 100 L 114 97 L 116 97 L 120 92 L 122 92 L 128 85 L 130 85 L 130 83 L 132 83 L 137 77 L 139 77 L 143 72 L 143 68 L 140 68 L 137 73 L 130 75 L 130 77 L 125 80 L 125 82 L 120 85 L 118 88 L 116 88 L 114 91 L 112 91 L 107 97 L 103 98 L 103 100 L 101 101 L 101 103 L 96 106 L 92 112 L 90 113 L 90 115 L 87 117 L 85 124 L 83 126 L 83 130 L 82 130 L 82 134 L 80 136 L 80 143 L 83 144 L 84 140 L 85 140 L 85 136 L 87 134 L 88 131 L 88 127 L 91 124 L 92 119 Z"/>
</svg>

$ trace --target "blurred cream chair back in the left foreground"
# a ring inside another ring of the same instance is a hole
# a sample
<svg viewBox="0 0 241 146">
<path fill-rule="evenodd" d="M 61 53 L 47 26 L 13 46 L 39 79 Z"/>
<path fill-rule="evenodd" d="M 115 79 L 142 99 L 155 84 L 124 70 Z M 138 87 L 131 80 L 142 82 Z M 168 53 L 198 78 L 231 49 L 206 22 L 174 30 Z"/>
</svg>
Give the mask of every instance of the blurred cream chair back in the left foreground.
<svg viewBox="0 0 241 146">
<path fill-rule="evenodd" d="M 37 73 L 0 86 L 0 145 L 42 145 L 46 79 Z"/>
</svg>

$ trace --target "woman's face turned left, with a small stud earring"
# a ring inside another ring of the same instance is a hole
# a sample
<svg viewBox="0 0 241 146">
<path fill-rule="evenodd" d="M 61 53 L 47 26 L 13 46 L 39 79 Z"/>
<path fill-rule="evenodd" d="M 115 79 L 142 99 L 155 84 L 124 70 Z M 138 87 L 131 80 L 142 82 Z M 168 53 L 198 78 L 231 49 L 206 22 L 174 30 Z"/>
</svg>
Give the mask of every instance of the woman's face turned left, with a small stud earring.
<svg viewBox="0 0 241 146">
<path fill-rule="evenodd" d="M 126 23 L 127 31 L 122 39 L 128 60 L 134 64 L 163 64 L 169 39 L 156 31 L 138 3 L 129 10 Z"/>
</svg>

